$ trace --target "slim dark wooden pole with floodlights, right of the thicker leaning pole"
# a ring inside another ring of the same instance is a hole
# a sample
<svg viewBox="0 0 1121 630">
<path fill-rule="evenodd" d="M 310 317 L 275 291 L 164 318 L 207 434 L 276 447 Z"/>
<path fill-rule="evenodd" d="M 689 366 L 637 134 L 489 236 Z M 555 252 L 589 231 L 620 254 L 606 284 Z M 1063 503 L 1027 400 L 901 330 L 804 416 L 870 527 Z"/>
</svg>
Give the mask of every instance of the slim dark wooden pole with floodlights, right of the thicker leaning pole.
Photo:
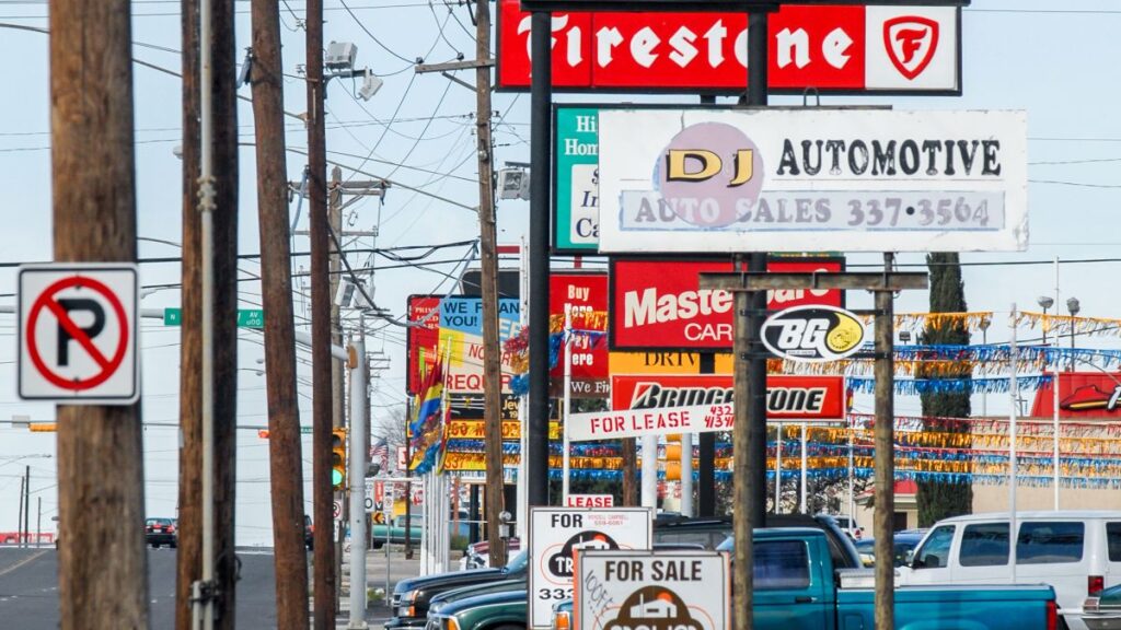
<svg viewBox="0 0 1121 630">
<path fill-rule="evenodd" d="M 331 483 L 331 276 L 327 148 L 323 121 L 323 0 L 307 1 L 307 209 L 312 241 L 312 495 L 315 512 L 315 629 L 335 628 Z"/>
</svg>

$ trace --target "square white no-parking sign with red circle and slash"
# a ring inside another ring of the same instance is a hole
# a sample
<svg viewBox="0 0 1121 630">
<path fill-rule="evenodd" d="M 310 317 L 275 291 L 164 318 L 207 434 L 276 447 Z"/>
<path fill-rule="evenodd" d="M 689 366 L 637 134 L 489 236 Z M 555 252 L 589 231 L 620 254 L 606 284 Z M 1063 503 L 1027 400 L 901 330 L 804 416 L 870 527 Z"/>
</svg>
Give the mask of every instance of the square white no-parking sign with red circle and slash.
<svg viewBox="0 0 1121 630">
<path fill-rule="evenodd" d="M 20 398 L 66 405 L 136 402 L 138 302 L 135 265 L 20 267 Z"/>
</svg>

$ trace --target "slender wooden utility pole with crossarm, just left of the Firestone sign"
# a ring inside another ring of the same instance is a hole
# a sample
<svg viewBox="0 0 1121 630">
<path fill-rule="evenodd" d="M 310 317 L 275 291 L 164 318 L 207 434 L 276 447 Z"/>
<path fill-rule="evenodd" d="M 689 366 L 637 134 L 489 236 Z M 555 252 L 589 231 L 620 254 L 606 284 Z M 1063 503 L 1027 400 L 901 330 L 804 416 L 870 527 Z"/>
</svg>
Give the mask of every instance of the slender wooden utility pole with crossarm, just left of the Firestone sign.
<svg viewBox="0 0 1121 630">
<path fill-rule="evenodd" d="M 490 565 L 506 566 L 499 545 L 499 513 L 506 506 L 502 476 L 502 348 L 498 339 L 498 228 L 494 217 L 494 156 L 491 141 L 490 2 L 475 2 L 475 136 L 479 140 L 479 242 L 482 250 L 483 418 L 487 430 L 487 539 Z"/>
</svg>

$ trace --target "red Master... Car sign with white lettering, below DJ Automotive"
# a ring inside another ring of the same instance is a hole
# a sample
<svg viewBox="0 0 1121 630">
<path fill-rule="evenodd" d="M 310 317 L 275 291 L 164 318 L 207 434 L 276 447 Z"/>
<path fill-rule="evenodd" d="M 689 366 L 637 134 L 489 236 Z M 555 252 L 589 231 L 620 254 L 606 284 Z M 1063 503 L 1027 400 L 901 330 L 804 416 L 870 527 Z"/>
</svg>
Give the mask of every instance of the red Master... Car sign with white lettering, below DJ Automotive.
<svg viewBox="0 0 1121 630">
<path fill-rule="evenodd" d="M 726 352 L 732 348 L 732 294 L 700 289 L 700 275 L 731 272 L 729 260 L 613 259 L 611 350 Z M 837 272 L 843 258 L 775 258 L 768 271 Z M 767 293 L 767 308 L 844 306 L 841 290 Z"/>
</svg>

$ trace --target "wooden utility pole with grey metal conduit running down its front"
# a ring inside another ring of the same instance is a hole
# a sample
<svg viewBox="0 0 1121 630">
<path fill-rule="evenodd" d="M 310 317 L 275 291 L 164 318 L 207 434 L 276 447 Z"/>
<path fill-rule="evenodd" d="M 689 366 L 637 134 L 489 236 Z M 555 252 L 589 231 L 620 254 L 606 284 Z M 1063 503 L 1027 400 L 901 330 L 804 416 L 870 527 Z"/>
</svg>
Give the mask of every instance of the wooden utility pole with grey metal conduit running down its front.
<svg viewBox="0 0 1121 630">
<path fill-rule="evenodd" d="M 238 95 L 233 1 L 212 0 L 211 90 L 214 102 L 214 577 L 215 627 L 232 629 L 237 587 L 234 498 L 238 368 Z M 176 627 L 191 628 L 191 586 L 202 576 L 202 217 L 200 10 L 183 0 L 183 326 L 180 328 L 179 552 Z"/>
</svg>

